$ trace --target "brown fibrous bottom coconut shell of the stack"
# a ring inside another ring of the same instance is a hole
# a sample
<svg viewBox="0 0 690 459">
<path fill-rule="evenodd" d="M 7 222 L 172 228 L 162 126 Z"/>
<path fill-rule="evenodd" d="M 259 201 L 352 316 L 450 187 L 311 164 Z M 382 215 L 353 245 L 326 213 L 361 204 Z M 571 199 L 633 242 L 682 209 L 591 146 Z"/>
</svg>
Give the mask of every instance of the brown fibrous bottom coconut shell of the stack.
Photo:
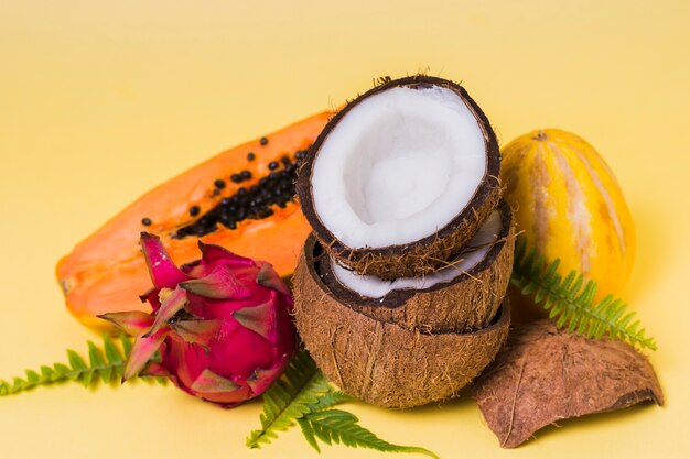
<svg viewBox="0 0 690 459">
<path fill-rule="evenodd" d="M 293 281 L 295 324 L 316 364 L 344 392 L 374 405 L 407 408 L 455 395 L 490 363 L 508 335 L 507 302 L 478 331 L 429 334 L 342 303 L 304 251 Z"/>
</svg>

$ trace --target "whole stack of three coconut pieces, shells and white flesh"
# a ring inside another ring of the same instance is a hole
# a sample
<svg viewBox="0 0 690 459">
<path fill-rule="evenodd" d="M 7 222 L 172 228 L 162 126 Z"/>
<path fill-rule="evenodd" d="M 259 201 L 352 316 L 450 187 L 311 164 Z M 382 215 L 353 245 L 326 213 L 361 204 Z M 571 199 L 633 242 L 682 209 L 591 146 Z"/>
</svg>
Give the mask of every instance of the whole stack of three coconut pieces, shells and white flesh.
<svg viewBox="0 0 690 459">
<path fill-rule="evenodd" d="M 496 136 L 459 85 L 414 76 L 325 127 L 298 178 L 313 228 L 295 320 L 323 373 L 386 407 L 450 397 L 506 339 L 513 265 Z"/>
</svg>

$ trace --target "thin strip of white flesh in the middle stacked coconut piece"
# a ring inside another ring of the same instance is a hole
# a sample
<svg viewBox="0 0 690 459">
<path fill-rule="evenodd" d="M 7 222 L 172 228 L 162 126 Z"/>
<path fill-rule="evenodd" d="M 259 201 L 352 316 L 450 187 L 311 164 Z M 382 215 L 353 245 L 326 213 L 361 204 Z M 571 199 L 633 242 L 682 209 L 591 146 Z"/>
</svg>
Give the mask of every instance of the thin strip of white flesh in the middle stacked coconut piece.
<svg viewBox="0 0 690 459">
<path fill-rule="evenodd" d="M 331 258 L 331 267 L 337 282 L 349 291 L 367 298 L 382 298 L 392 291 L 430 288 L 436 284 L 452 281 L 484 260 L 494 242 L 498 239 L 500 228 L 500 212 L 495 210 L 467 243 L 466 247 L 475 248 L 474 250 L 463 253 L 457 260 L 452 262 L 451 266 L 420 277 L 400 277 L 395 281 L 384 281 L 373 275 L 359 275 L 341 266 L 333 258 Z"/>
</svg>

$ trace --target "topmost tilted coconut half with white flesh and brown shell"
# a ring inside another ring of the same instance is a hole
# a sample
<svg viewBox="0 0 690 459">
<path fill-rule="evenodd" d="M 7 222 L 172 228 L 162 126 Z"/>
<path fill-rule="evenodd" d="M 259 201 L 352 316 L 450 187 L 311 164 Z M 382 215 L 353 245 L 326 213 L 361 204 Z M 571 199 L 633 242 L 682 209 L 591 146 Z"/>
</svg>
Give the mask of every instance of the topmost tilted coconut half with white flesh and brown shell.
<svg viewBox="0 0 690 459">
<path fill-rule="evenodd" d="M 326 124 L 297 193 L 316 238 L 382 280 L 448 266 L 500 198 L 496 135 L 459 85 L 413 76 L 380 85 Z"/>
</svg>

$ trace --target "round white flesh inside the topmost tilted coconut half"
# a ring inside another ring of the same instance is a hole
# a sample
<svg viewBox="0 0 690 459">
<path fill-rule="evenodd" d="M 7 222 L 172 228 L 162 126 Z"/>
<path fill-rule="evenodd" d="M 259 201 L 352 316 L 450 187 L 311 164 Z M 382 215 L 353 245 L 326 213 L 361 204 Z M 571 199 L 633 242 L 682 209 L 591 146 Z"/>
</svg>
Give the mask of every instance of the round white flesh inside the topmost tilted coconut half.
<svg viewBox="0 0 690 459">
<path fill-rule="evenodd" d="M 325 139 L 314 208 L 353 249 L 411 243 L 456 217 L 485 171 L 482 129 L 460 96 L 396 87 L 359 102 Z"/>
</svg>

